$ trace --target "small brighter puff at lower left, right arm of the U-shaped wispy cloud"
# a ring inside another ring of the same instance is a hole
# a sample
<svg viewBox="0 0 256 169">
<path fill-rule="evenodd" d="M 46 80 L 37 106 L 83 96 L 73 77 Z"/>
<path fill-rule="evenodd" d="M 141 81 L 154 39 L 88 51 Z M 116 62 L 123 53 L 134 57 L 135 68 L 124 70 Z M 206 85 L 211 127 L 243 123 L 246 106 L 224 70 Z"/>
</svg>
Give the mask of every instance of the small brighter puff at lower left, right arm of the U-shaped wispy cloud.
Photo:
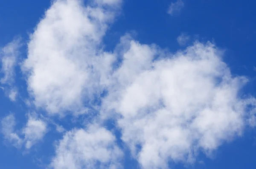
<svg viewBox="0 0 256 169">
<path fill-rule="evenodd" d="M 35 143 L 41 141 L 47 132 L 47 124 L 29 115 L 26 127 L 23 128 L 23 135 L 26 149 L 30 149 Z"/>
</svg>

